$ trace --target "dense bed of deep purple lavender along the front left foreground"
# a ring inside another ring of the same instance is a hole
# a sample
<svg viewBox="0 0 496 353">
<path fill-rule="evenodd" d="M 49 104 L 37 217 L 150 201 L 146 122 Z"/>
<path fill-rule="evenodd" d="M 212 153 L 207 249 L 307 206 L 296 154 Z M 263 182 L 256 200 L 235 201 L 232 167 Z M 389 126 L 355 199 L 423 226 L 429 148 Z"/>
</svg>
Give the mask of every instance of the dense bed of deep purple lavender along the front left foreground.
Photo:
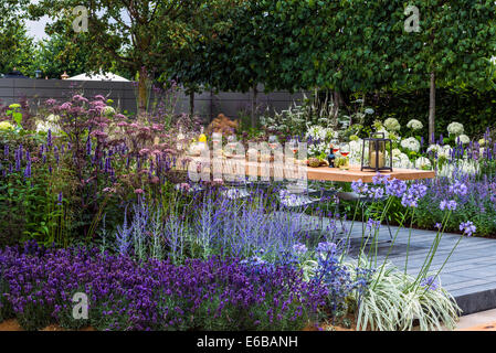
<svg viewBox="0 0 496 353">
<path fill-rule="evenodd" d="M 98 249 L 0 252 L 0 312 L 29 330 L 55 321 L 77 328 L 72 296 L 89 299 L 97 330 L 294 330 L 315 323 L 327 290 L 284 266 L 239 259 L 135 261 Z"/>
</svg>

